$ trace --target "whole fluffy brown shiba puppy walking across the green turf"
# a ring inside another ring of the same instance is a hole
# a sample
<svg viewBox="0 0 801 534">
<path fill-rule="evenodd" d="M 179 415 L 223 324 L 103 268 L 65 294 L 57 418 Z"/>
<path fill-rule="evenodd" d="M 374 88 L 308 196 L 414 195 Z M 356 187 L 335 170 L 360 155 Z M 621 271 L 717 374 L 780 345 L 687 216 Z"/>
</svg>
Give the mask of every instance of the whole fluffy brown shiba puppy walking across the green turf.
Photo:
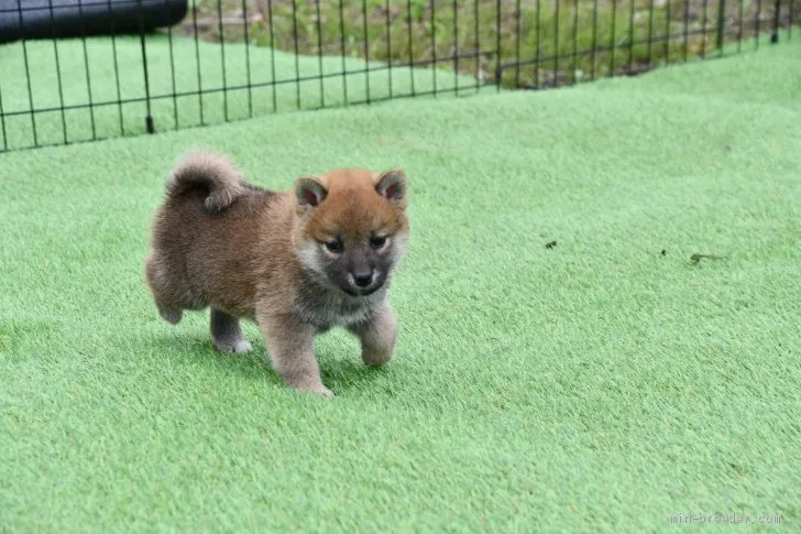
<svg viewBox="0 0 801 534">
<path fill-rule="evenodd" d="M 255 320 L 284 383 L 323 396 L 332 393 L 314 355 L 317 334 L 341 326 L 360 338 L 365 364 L 392 358 L 387 290 L 409 236 L 403 171 L 334 170 L 273 192 L 198 152 L 166 189 L 145 261 L 165 320 L 210 307 L 215 345 L 229 352 L 251 350 L 239 319 Z"/>
</svg>

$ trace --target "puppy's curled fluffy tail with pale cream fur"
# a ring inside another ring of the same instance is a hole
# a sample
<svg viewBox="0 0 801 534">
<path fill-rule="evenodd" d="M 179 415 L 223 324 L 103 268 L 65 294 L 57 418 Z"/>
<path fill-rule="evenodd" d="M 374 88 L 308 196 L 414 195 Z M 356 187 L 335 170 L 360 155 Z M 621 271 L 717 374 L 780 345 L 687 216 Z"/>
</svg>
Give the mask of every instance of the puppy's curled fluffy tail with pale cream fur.
<svg viewBox="0 0 801 534">
<path fill-rule="evenodd" d="M 185 156 L 173 170 L 167 182 L 167 195 L 175 197 L 196 189 L 207 194 L 204 210 L 216 214 L 230 206 L 244 187 L 239 170 L 226 157 L 196 152 Z"/>
</svg>

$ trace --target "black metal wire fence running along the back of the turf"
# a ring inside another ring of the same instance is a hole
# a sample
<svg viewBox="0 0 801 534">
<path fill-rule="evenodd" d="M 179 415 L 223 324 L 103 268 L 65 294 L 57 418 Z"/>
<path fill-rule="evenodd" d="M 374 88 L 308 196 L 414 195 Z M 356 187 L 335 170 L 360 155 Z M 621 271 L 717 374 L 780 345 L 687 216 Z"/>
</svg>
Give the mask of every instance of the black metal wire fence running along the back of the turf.
<svg viewBox="0 0 801 534">
<path fill-rule="evenodd" d="M 545 89 L 791 39 L 794 0 L 0 0 L 0 152 Z"/>
</svg>

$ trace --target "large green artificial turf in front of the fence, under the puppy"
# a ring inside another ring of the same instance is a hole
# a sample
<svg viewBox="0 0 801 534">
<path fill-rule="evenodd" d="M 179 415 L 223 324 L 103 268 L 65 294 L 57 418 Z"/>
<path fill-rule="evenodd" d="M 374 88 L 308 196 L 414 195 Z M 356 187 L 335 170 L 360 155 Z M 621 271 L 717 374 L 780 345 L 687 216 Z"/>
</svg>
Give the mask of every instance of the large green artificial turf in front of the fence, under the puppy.
<svg viewBox="0 0 801 534">
<path fill-rule="evenodd" d="M 800 86 L 793 41 L 0 155 L 0 531 L 800 530 Z M 191 145 L 270 187 L 406 170 L 386 368 L 326 335 L 328 402 L 279 383 L 252 325 L 226 356 L 206 314 L 158 318 L 150 217 Z"/>
</svg>

